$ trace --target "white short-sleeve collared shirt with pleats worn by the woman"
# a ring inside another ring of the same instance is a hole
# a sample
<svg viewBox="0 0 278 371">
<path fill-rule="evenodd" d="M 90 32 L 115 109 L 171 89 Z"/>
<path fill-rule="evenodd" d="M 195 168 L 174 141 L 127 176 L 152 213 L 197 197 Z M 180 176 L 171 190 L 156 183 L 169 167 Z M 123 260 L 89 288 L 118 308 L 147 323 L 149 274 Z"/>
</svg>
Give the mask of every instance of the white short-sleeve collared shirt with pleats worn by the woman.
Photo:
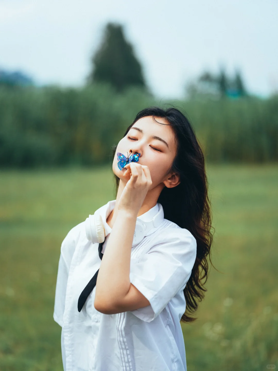
<svg viewBox="0 0 278 371">
<path fill-rule="evenodd" d="M 95 211 L 105 226 L 116 200 Z M 158 203 L 138 217 L 151 220 Z M 86 238 L 85 222 L 64 238 L 58 265 L 54 320 L 62 326 L 64 371 L 186 371 L 181 316 L 183 289 L 196 259 L 196 240 L 187 230 L 164 219 L 132 247 L 130 282 L 150 305 L 134 311 L 103 314 L 94 307 L 95 289 L 81 312 L 80 293 L 100 267 L 98 244 Z"/>
</svg>

